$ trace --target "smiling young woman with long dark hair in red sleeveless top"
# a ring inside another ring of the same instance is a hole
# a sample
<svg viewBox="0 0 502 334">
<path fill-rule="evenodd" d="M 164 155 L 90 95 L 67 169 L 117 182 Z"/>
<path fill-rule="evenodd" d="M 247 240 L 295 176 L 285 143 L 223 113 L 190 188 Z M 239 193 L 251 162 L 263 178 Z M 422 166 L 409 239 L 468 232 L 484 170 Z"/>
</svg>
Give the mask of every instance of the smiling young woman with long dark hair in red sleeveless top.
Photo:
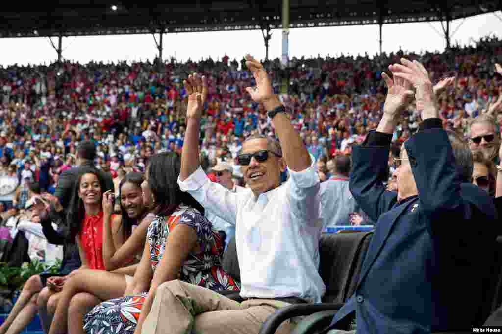
<svg viewBox="0 0 502 334">
<path fill-rule="evenodd" d="M 76 241 L 82 265 L 69 275 L 48 279 L 48 287 L 40 293 L 38 303 L 39 307 L 46 305 L 49 316 L 54 314 L 61 290 L 70 277 L 84 269 L 104 270 L 102 197 L 107 190 L 104 180 L 94 168 L 84 169 L 75 183 L 66 217 L 69 224 L 67 237 Z"/>
</svg>

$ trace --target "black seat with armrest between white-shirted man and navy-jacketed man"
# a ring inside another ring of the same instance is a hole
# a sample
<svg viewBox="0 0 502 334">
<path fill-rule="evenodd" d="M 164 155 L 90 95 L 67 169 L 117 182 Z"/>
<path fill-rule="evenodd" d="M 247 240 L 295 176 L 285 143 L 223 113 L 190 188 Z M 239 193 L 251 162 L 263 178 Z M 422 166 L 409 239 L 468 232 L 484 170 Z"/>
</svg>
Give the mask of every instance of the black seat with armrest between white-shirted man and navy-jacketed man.
<svg viewBox="0 0 502 334">
<path fill-rule="evenodd" d="M 373 232 L 323 234 L 319 273 L 326 284 L 326 294 L 322 303 L 281 308 L 269 316 L 262 325 L 260 334 L 272 334 L 283 321 L 307 315 L 293 333 L 317 332 L 326 328 L 333 319 L 333 314 L 355 291 L 372 234 Z"/>
</svg>

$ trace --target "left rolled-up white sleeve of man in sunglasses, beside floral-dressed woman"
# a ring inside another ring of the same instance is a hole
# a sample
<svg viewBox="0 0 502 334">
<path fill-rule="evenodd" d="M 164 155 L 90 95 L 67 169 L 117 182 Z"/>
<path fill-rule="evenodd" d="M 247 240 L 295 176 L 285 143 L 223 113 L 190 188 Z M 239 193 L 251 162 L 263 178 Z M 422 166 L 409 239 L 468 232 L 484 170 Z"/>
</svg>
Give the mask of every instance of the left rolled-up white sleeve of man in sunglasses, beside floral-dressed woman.
<svg viewBox="0 0 502 334">
<path fill-rule="evenodd" d="M 237 195 L 225 187 L 211 182 L 202 168 L 192 173 L 185 181 L 178 177 L 181 191 L 187 192 L 204 207 L 217 216 L 235 224 L 237 217 Z"/>
</svg>

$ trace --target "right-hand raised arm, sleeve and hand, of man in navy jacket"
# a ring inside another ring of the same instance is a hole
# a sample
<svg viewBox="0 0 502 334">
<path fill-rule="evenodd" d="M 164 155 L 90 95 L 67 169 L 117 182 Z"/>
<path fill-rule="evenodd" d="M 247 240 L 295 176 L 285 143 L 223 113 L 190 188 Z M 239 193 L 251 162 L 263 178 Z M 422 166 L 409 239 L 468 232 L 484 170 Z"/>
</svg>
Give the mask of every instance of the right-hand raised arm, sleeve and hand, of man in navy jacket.
<svg viewBox="0 0 502 334">
<path fill-rule="evenodd" d="M 470 210 L 461 196 L 462 176 L 456 167 L 447 133 L 439 125 L 436 97 L 429 74 L 417 61 L 402 58 L 401 63 L 395 65 L 394 76 L 405 79 L 416 89 L 417 104 L 422 106 L 423 124 L 438 123 L 430 129 L 418 131 L 405 143 L 417 185 L 420 210 L 428 217 L 436 219 L 448 217 L 449 220 L 455 221 L 467 218 Z M 431 147 L 434 149 L 430 149 Z"/>
</svg>

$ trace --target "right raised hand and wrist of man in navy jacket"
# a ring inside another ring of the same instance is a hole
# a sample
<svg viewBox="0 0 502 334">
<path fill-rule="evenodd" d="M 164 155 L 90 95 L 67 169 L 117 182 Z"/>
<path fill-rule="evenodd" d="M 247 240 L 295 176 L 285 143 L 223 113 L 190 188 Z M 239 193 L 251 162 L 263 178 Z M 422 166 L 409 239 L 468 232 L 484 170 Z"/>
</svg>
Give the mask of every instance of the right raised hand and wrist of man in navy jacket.
<svg viewBox="0 0 502 334">
<path fill-rule="evenodd" d="M 420 62 L 401 58 L 401 64 L 392 65 L 392 73 L 394 77 L 408 81 L 415 88 L 417 109 L 422 110 L 422 120 L 439 117 L 429 73 Z"/>
</svg>

